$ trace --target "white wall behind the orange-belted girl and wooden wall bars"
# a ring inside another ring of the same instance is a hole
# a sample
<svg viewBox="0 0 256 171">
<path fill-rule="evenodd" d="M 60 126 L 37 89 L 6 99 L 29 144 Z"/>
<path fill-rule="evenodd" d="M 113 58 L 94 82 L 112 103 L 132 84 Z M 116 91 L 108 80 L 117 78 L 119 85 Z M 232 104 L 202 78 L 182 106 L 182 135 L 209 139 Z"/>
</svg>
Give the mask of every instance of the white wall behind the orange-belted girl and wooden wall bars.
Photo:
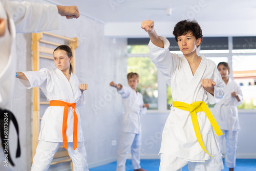
<svg viewBox="0 0 256 171">
<path fill-rule="evenodd" d="M 76 75 L 80 82 L 88 83 L 84 93 L 86 105 L 79 107 L 84 144 L 89 166 L 115 161 L 121 135 L 122 103 L 109 83 L 114 80 L 126 82 L 126 38 L 108 38 L 103 35 L 104 25 L 84 16 L 67 20 L 60 17 L 60 29 L 52 33 L 67 37 L 78 37 L 76 49 Z M 31 71 L 31 34 L 17 35 L 17 71 Z M 44 66 L 44 63 L 41 63 Z M 45 64 L 46 65 L 46 64 Z M 13 170 L 30 170 L 31 167 L 31 119 L 32 90 L 26 90 L 17 79 L 11 103 L 7 109 L 17 117 L 22 156 L 15 159 Z M 41 108 L 43 108 L 41 106 Z M 16 135 L 10 130 L 10 151 L 14 158 Z M 68 170 L 69 163 L 50 166 L 49 170 Z"/>
</svg>

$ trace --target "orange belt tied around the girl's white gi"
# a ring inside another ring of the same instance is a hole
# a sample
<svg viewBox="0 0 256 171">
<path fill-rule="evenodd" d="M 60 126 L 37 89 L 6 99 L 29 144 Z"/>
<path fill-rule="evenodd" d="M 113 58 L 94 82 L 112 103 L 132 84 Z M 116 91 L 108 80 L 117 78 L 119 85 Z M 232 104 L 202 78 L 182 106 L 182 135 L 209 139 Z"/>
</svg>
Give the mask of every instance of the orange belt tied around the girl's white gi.
<svg viewBox="0 0 256 171">
<path fill-rule="evenodd" d="M 68 121 L 68 114 L 69 114 L 69 107 L 71 106 L 74 109 L 74 131 L 73 131 L 73 148 L 74 150 L 77 147 L 77 124 L 78 118 L 76 115 L 76 103 L 68 103 L 65 101 L 60 100 L 51 100 L 50 106 L 64 106 L 64 113 L 63 113 L 63 122 L 62 122 L 62 138 L 63 138 L 63 147 L 68 149 L 68 139 L 67 139 L 67 121 Z"/>
</svg>

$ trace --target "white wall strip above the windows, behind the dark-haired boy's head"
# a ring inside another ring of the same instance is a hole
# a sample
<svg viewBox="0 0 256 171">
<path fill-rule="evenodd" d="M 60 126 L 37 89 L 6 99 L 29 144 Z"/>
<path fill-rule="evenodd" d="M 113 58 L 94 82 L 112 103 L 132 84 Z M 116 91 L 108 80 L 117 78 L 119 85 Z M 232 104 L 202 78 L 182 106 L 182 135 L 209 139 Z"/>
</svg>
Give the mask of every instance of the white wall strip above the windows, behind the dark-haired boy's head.
<svg viewBox="0 0 256 171">
<path fill-rule="evenodd" d="M 251 20 L 240 20 L 239 22 L 205 22 L 197 20 L 200 24 L 204 37 L 218 36 L 255 36 L 256 24 Z M 104 28 L 104 35 L 110 37 L 148 37 L 148 34 L 140 28 L 141 22 L 131 23 L 107 23 Z M 173 29 L 177 22 L 156 22 L 155 30 L 158 35 L 174 37 Z M 236 28 L 236 29 L 233 29 Z M 244 30 L 246 28 L 246 31 Z M 115 30 L 116 29 L 116 30 Z"/>
</svg>

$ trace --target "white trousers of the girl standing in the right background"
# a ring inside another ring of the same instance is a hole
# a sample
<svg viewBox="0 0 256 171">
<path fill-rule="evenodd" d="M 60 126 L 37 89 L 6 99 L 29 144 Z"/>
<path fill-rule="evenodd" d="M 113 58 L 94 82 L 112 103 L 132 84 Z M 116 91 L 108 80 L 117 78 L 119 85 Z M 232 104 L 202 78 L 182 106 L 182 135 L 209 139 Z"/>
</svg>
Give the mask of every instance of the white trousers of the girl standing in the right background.
<svg viewBox="0 0 256 171">
<path fill-rule="evenodd" d="M 224 138 L 226 139 L 225 166 L 234 168 L 236 166 L 238 131 L 232 131 L 232 137 L 229 137 L 228 130 L 221 130 L 223 135 L 219 136 L 220 151 L 222 153 L 222 145 Z M 222 162 L 223 165 L 223 162 Z"/>
</svg>

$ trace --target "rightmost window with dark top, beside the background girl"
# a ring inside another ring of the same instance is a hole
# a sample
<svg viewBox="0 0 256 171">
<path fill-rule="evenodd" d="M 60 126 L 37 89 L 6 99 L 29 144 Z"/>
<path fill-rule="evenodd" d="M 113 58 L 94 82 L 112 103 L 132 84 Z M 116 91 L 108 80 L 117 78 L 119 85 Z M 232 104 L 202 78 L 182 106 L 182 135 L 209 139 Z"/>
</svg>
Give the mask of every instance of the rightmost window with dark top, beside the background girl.
<svg viewBox="0 0 256 171">
<path fill-rule="evenodd" d="M 256 109 L 256 37 L 233 37 L 232 69 L 244 101 L 238 109 Z"/>
</svg>

